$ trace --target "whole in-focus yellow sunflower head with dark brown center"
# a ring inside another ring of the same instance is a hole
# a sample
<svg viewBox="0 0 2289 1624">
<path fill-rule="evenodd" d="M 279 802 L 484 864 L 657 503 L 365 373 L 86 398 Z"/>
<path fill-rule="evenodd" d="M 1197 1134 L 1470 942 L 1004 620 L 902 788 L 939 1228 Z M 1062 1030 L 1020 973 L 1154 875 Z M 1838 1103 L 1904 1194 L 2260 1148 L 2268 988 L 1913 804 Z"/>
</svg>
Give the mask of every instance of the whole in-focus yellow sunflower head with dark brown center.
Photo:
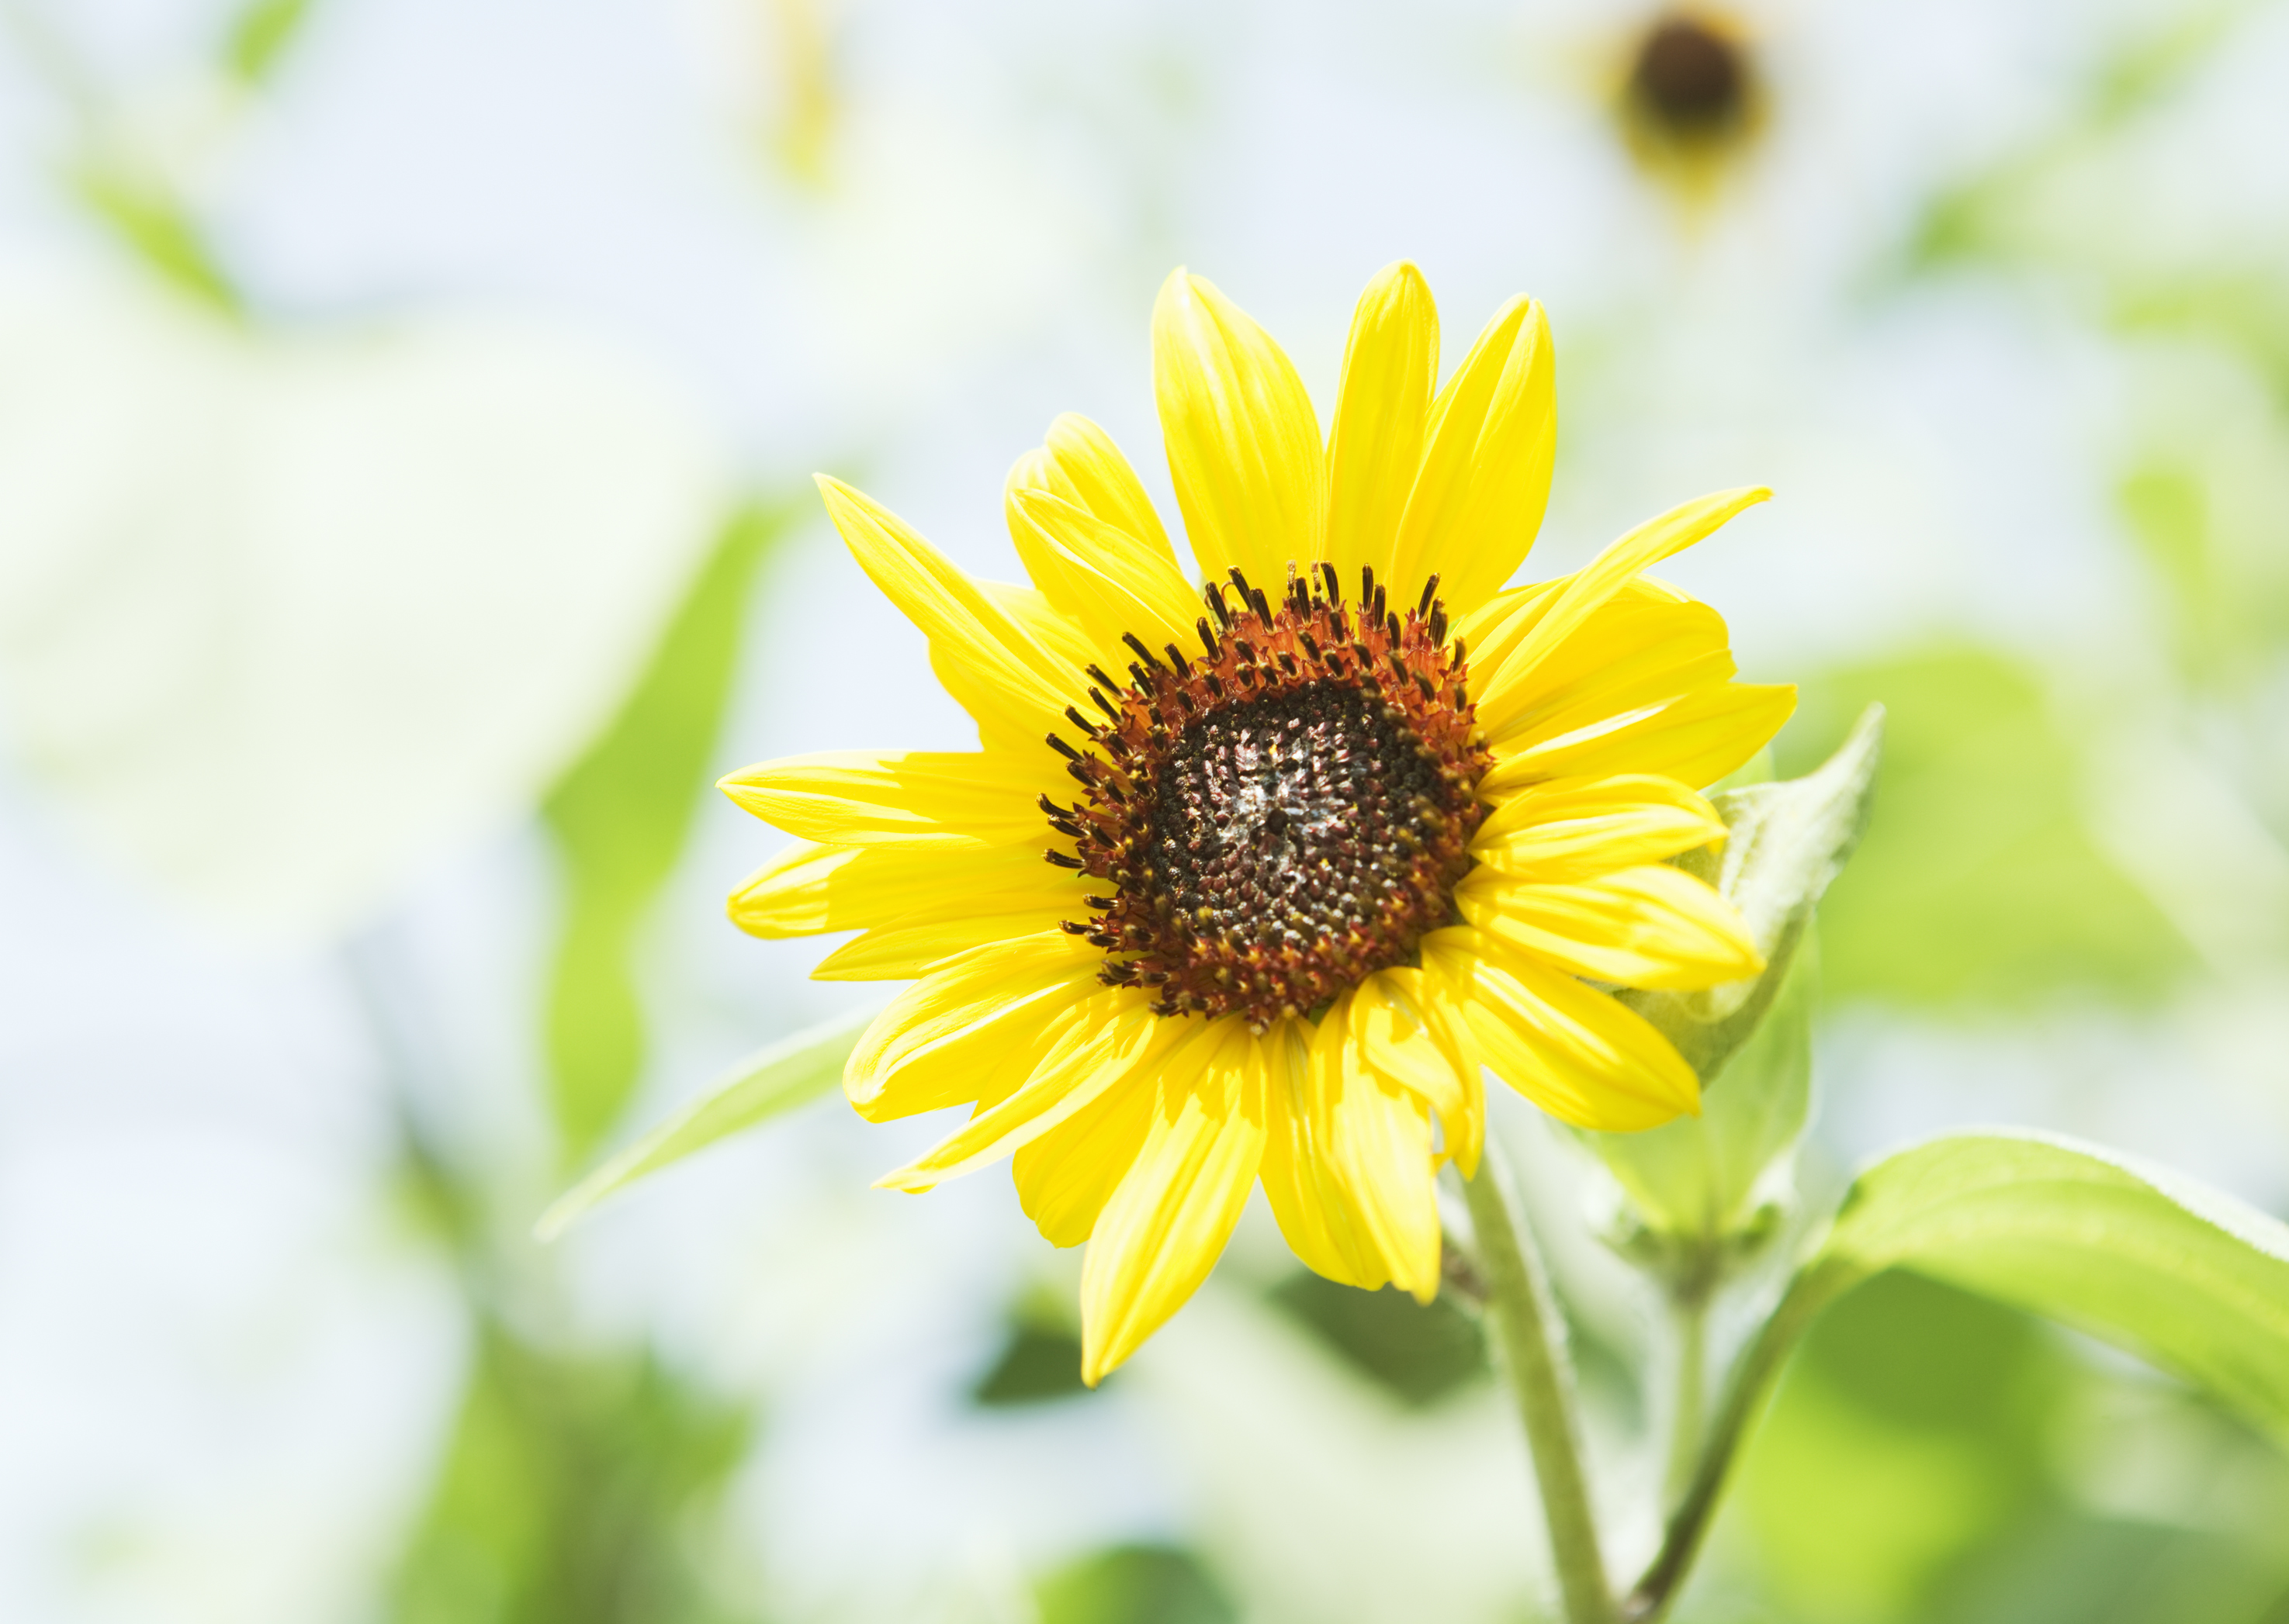
<svg viewBox="0 0 2289 1624">
<path fill-rule="evenodd" d="M 1694 785 L 1795 707 L 1730 679 L 1717 611 L 1641 574 L 1765 489 L 1504 586 L 1550 494 L 1536 302 L 1440 387 L 1421 272 L 1380 272 L 1325 439 L 1209 281 L 1172 274 L 1151 339 L 1206 586 L 1080 416 L 1009 473 L 1030 586 L 964 574 L 822 478 L 982 748 L 721 785 L 801 842 L 732 920 L 856 929 L 817 977 L 913 981 L 849 1057 L 858 1114 L 971 1107 L 881 1185 L 1014 1155 L 1041 1235 L 1087 1242 L 1092 1384 L 1199 1288 L 1257 1183 L 1305 1265 L 1428 1301 L 1435 1176 L 1476 1171 L 1486 1068 L 1584 1128 L 1696 1112 L 1694 1070 L 1611 990 L 1758 972 L 1742 920 L 1664 858 L 1724 839 Z"/>
</svg>

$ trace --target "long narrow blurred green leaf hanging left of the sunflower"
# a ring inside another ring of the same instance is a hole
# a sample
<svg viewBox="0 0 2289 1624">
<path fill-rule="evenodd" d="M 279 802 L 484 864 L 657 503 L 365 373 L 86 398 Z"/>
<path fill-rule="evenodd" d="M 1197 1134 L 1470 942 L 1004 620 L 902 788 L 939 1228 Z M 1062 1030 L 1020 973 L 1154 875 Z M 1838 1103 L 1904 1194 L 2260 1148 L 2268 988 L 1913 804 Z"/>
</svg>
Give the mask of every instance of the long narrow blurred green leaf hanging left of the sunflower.
<svg viewBox="0 0 2289 1624">
<path fill-rule="evenodd" d="M 568 892 L 547 1004 L 568 1162 L 595 1148 L 643 1068 L 636 931 L 684 849 L 739 659 L 749 581 L 785 522 L 751 508 L 726 526 L 627 704 L 542 805 Z"/>
</svg>

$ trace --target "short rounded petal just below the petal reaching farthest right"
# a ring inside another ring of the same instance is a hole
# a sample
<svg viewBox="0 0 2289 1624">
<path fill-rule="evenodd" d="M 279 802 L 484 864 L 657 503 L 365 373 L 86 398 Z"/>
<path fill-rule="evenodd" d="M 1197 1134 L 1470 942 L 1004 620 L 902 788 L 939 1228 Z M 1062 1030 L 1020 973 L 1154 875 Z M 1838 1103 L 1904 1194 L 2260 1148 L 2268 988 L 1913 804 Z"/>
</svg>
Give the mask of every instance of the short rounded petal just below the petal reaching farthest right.
<svg viewBox="0 0 2289 1624">
<path fill-rule="evenodd" d="M 1724 839 L 1717 807 L 1653 773 L 1561 778 L 1502 801 L 1470 855 L 1522 881 L 1579 881 Z"/>
</svg>

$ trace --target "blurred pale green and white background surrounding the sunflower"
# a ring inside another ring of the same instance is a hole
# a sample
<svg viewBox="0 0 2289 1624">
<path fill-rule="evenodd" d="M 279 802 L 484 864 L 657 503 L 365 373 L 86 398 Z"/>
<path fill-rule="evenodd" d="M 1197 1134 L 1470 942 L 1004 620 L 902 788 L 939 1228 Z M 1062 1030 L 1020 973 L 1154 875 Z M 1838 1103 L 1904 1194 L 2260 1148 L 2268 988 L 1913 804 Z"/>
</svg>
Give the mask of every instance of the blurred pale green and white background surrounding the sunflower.
<svg viewBox="0 0 2289 1624">
<path fill-rule="evenodd" d="M 771 837 L 710 780 L 961 741 L 803 476 L 989 574 L 1055 412 L 1165 496 L 1179 261 L 1323 405 L 1376 265 L 1449 355 L 1540 295 L 1536 567 L 1779 487 L 1678 581 L 1801 679 L 1779 775 L 1870 702 L 1886 750 L 1783 993 L 1817 1098 L 1765 1221 L 1964 1123 L 2289 1210 L 2282 5 L 1744 5 L 1689 128 L 1630 78 L 1653 7 L 0 21 L 0 1615 L 1534 1615 L 1476 1324 L 1261 1215 L 1099 1393 L 1071 1258 L 993 1180 L 870 1192 L 909 1146 L 803 1105 L 829 1061 L 531 1240 L 868 997 L 723 924 Z M 478 446 L 453 400 L 515 405 Z M 1547 1231 L 1611 1212 L 1497 1128 Z M 2278 1404 L 2028 1317 L 2074 1276 L 2007 1256 L 1866 1247 L 1923 1272 L 1804 1331 L 1680 1619 L 2289 1619 Z M 1605 1242 L 1557 1263 L 1623 1500 L 1664 1329 Z"/>
</svg>

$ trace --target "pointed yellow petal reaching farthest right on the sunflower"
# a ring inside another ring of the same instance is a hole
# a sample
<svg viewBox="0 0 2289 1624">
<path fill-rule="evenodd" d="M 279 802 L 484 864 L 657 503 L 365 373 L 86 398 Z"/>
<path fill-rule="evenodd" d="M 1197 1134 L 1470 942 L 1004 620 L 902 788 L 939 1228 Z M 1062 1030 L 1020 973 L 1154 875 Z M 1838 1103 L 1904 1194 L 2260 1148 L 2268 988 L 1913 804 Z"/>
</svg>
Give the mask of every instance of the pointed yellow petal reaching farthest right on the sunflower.
<svg viewBox="0 0 2289 1624">
<path fill-rule="evenodd" d="M 1502 798 L 1545 778 L 1660 773 L 1680 785 L 1714 785 L 1763 750 L 1797 709 L 1792 684 L 1728 682 L 1669 704 L 1623 711 L 1579 732 L 1497 746 L 1479 794 Z"/>
</svg>

